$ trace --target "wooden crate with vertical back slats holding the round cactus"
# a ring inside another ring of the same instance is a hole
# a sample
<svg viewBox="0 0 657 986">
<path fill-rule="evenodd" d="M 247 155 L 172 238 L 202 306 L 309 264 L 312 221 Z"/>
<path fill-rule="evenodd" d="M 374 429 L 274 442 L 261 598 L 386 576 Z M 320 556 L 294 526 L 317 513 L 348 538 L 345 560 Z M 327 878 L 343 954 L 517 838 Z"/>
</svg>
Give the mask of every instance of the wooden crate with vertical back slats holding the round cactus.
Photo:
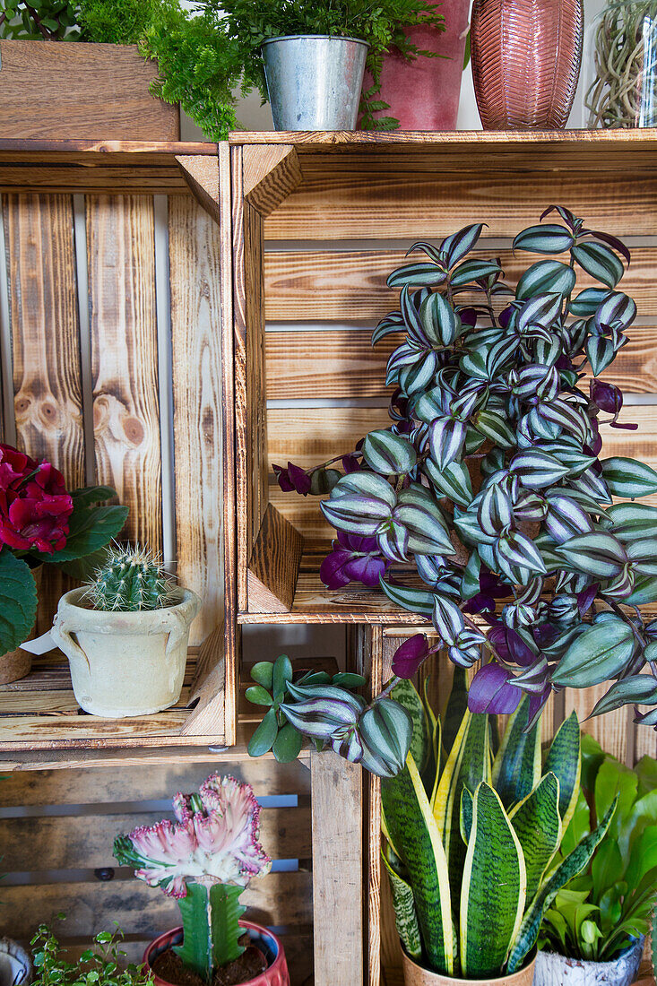
<svg viewBox="0 0 657 986">
<path fill-rule="evenodd" d="M 203 600 L 176 708 L 82 714 L 55 652 L 0 688 L 0 751 L 37 764 L 38 751 L 233 743 L 216 147 L 0 141 L 0 194 L 0 436 L 53 461 L 71 487 L 113 486 L 130 507 L 122 536 L 175 562 Z M 39 631 L 70 588 L 46 576 Z"/>
</svg>

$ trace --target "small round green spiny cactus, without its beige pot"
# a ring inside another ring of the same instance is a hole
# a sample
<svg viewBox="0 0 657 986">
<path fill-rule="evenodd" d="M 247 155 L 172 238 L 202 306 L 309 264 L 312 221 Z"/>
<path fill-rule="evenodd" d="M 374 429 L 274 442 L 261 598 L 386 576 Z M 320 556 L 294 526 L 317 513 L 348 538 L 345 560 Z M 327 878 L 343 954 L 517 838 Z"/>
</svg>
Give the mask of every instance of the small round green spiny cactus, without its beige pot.
<svg viewBox="0 0 657 986">
<path fill-rule="evenodd" d="M 96 609 L 134 612 L 162 609 L 173 599 L 174 583 L 161 562 L 139 545 L 113 545 L 89 585 Z"/>
</svg>

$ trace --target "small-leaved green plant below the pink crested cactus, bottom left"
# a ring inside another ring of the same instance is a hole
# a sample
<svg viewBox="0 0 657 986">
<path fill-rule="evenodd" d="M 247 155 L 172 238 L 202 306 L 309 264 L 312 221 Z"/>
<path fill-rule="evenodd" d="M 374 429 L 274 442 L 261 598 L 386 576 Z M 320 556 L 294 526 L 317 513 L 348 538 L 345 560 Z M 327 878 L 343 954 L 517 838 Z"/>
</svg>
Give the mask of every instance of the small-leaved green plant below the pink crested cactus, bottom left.
<svg viewBox="0 0 657 986">
<path fill-rule="evenodd" d="M 64 920 L 57 914 L 57 920 Z M 120 943 L 123 933 L 118 927 L 104 931 L 94 939 L 94 948 L 83 951 L 76 962 L 65 958 L 64 947 L 47 925 L 39 925 L 32 940 L 35 963 L 33 986 L 147 986 L 152 983 L 143 965 L 121 968 L 125 952 Z"/>
</svg>

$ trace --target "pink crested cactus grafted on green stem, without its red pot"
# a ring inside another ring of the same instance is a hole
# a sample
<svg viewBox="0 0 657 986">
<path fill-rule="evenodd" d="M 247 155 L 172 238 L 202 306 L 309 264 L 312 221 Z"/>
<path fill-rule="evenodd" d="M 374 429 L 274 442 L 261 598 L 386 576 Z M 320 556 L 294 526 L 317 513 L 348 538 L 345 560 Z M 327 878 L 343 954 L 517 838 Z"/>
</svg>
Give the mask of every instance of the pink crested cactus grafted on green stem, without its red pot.
<svg viewBox="0 0 657 986">
<path fill-rule="evenodd" d="M 177 794 L 176 821 L 142 825 L 114 841 L 120 866 L 159 886 L 178 901 L 183 944 L 174 949 L 183 965 L 206 983 L 216 969 L 243 953 L 245 912 L 240 895 L 269 872 L 271 861 L 258 842 L 259 806 L 251 785 L 212 774 L 198 793 Z"/>
</svg>

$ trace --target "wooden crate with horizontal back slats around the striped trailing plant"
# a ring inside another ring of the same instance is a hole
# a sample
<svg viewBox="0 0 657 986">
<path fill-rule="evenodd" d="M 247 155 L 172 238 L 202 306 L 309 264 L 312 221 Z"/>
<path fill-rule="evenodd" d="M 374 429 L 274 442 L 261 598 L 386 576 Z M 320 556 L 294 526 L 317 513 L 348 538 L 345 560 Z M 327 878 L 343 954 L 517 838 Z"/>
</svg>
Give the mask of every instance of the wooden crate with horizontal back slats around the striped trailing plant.
<svg viewBox="0 0 657 986">
<path fill-rule="evenodd" d="M 378 592 L 324 590 L 318 569 L 330 528 L 317 498 L 282 493 L 271 466 L 348 452 L 389 423 L 385 365 L 399 340 L 373 351 L 369 339 L 398 303 L 386 276 L 414 240 L 485 220 L 478 252 L 500 255 L 513 277 L 528 258 L 513 256 L 512 237 L 550 202 L 629 237 L 635 248 L 623 285 L 639 318 L 606 377 L 657 400 L 656 150 L 654 130 L 231 138 L 235 332 L 233 364 L 224 364 L 226 455 L 236 456 L 224 501 L 227 517 L 237 516 L 227 538 L 231 618 L 399 618 Z M 657 462 L 654 404 L 632 407 L 630 416 L 639 431 L 610 432 L 606 453 Z"/>
</svg>

